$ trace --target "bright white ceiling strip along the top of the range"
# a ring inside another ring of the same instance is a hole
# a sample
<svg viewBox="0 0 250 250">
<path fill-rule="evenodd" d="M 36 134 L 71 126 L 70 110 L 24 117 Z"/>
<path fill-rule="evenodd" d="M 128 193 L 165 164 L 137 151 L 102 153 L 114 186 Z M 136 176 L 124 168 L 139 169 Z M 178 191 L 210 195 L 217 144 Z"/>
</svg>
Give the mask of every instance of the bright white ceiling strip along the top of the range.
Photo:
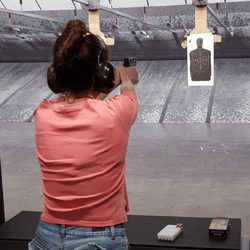
<svg viewBox="0 0 250 250">
<path fill-rule="evenodd" d="M 42 10 L 70 10 L 81 9 L 80 3 L 72 0 L 22 0 L 22 11 L 40 11 Z M 230 3 L 230 2 L 247 2 L 247 0 L 208 0 L 212 3 Z M 100 0 L 100 5 L 109 8 L 132 8 L 132 7 L 147 7 L 147 6 L 171 6 L 171 5 L 186 5 L 192 4 L 192 0 Z M 41 9 L 40 9 L 40 7 Z M 21 11 L 20 0 L 0 0 L 0 8 Z"/>
</svg>

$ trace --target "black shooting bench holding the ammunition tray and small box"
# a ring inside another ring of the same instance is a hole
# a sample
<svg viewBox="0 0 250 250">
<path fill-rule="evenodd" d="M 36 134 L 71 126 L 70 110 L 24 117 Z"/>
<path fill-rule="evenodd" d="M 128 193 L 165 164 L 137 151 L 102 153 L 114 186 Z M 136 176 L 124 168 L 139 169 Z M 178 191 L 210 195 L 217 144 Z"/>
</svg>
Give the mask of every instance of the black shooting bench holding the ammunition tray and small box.
<svg viewBox="0 0 250 250">
<path fill-rule="evenodd" d="M 0 158 L 0 249 L 27 250 L 35 237 L 42 212 L 22 211 L 5 222 L 2 170 Z M 128 215 L 126 234 L 132 250 L 160 249 L 241 249 L 241 219 L 229 219 L 229 232 L 225 240 L 211 240 L 209 225 L 213 218 L 166 217 Z M 172 241 L 157 239 L 166 225 L 183 224 L 183 232 Z"/>
</svg>

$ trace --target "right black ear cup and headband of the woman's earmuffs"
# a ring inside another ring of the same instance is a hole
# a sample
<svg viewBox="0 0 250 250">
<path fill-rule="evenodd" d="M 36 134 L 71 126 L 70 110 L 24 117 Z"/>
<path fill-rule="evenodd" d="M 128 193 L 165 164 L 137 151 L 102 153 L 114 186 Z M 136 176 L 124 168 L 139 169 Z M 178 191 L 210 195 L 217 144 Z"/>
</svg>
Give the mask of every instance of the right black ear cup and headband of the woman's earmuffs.
<svg viewBox="0 0 250 250">
<path fill-rule="evenodd" d="M 101 54 L 103 51 L 106 51 L 106 46 L 101 38 L 95 37 L 95 39 L 99 44 L 100 52 L 98 55 L 97 74 L 93 81 L 93 87 L 95 91 L 109 94 L 110 89 L 115 87 L 116 69 L 110 62 L 100 62 Z"/>
</svg>

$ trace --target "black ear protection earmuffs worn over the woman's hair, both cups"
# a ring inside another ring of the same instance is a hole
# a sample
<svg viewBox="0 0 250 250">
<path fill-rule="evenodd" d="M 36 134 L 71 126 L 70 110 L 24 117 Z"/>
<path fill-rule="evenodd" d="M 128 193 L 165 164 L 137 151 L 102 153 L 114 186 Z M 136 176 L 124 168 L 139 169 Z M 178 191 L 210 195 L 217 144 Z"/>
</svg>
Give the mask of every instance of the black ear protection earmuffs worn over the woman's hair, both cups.
<svg viewBox="0 0 250 250">
<path fill-rule="evenodd" d="M 96 75 L 93 78 L 93 87 L 95 91 L 109 94 L 110 90 L 115 87 L 116 69 L 110 62 L 100 62 L 101 54 L 103 51 L 106 51 L 106 46 L 101 38 L 95 36 L 95 39 L 100 51 L 98 55 L 98 65 L 96 67 Z M 65 92 L 64 89 L 59 88 L 59 86 L 57 85 L 54 69 L 51 66 L 47 70 L 47 81 L 49 88 L 54 93 L 58 94 L 61 92 Z"/>
</svg>

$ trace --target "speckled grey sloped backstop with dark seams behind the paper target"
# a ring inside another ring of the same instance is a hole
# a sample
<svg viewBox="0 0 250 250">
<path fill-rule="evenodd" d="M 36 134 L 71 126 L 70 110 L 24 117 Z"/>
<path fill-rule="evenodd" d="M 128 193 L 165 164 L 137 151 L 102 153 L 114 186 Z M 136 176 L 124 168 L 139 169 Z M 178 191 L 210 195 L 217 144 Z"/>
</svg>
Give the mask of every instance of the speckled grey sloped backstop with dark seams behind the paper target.
<svg viewBox="0 0 250 250">
<path fill-rule="evenodd" d="M 113 62 L 119 69 L 120 62 Z M 0 64 L 0 121 L 32 121 L 47 86 L 49 63 Z M 250 58 L 215 60 L 213 87 L 188 87 L 187 61 L 139 61 L 136 123 L 249 123 Z M 120 87 L 108 97 L 120 94 Z"/>
</svg>

